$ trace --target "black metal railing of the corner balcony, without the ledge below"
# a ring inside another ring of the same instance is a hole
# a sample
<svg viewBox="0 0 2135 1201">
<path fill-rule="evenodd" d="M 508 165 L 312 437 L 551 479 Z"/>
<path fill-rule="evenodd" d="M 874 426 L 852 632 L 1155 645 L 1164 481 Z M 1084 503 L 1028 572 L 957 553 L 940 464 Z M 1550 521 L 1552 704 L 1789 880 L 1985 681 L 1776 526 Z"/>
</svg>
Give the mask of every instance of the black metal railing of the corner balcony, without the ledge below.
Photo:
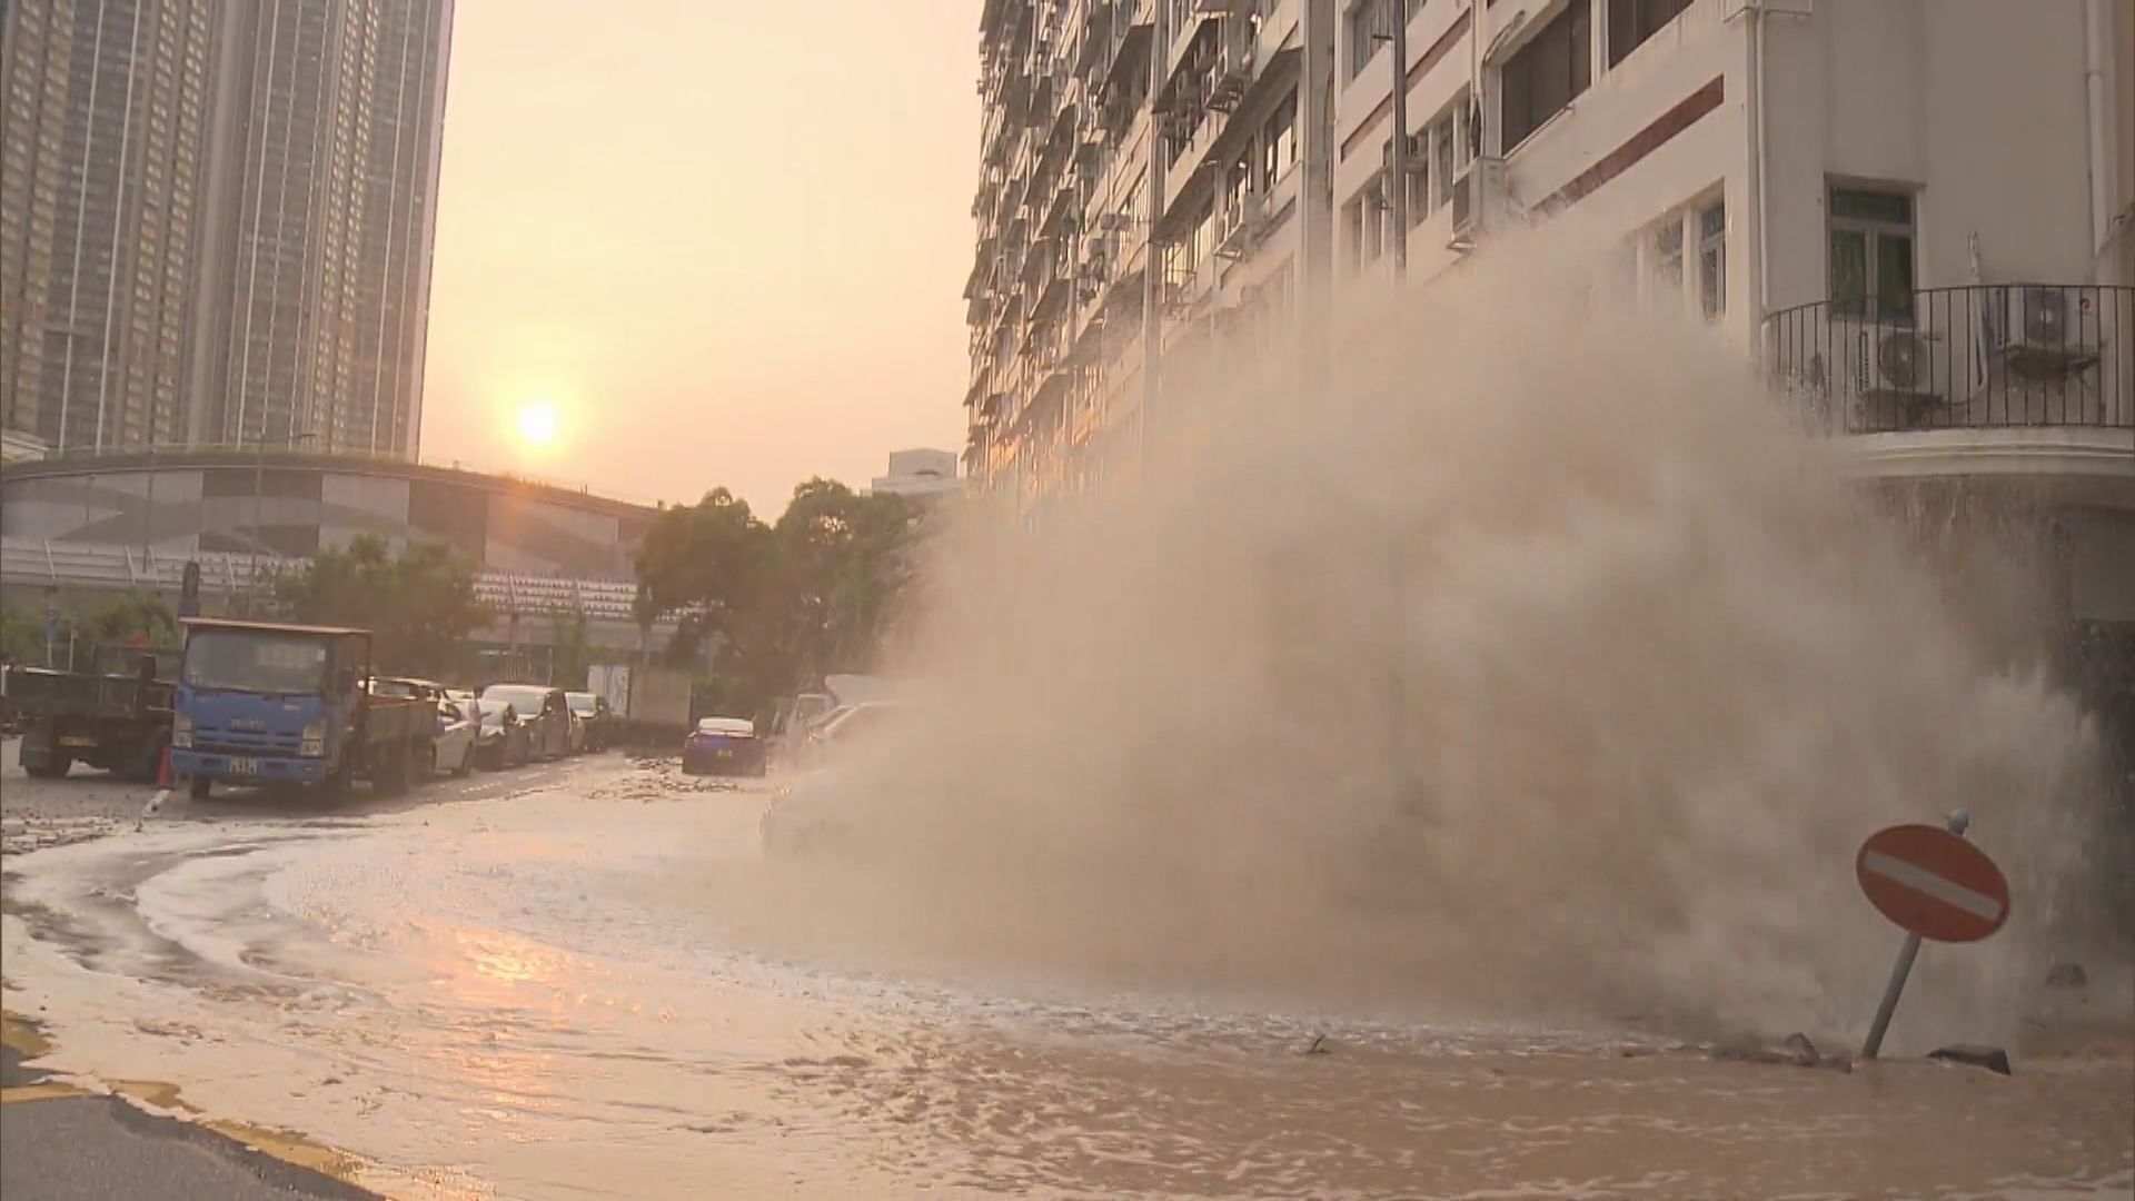
<svg viewBox="0 0 2135 1201">
<path fill-rule="evenodd" d="M 2135 286 L 1973 284 L 1764 323 L 1774 383 L 1834 434 L 2135 427 Z"/>
</svg>

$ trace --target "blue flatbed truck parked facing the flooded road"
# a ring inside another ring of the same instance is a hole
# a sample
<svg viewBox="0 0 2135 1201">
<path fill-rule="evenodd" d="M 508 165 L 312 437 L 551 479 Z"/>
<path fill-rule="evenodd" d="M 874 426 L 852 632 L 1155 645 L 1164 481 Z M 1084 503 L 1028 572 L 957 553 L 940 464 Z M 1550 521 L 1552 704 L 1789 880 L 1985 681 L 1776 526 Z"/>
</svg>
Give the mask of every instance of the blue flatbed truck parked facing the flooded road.
<svg viewBox="0 0 2135 1201">
<path fill-rule="evenodd" d="M 339 795 L 357 778 L 401 793 L 429 763 L 436 705 L 371 695 L 371 635 L 186 618 L 171 774 L 194 799 L 216 782 Z"/>
</svg>

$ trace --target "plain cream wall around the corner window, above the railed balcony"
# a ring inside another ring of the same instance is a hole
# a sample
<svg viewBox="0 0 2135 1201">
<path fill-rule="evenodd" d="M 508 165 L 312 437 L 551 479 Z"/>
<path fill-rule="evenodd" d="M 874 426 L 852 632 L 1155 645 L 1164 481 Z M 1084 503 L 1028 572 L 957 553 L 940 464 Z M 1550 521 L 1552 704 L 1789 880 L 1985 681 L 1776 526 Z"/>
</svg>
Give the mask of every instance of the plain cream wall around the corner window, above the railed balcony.
<svg viewBox="0 0 2135 1201">
<path fill-rule="evenodd" d="M 1917 190 L 1915 282 L 2088 282 L 2082 0 L 1825 0 L 1770 17 L 1770 295 L 1825 299 L 1825 182 Z"/>
</svg>

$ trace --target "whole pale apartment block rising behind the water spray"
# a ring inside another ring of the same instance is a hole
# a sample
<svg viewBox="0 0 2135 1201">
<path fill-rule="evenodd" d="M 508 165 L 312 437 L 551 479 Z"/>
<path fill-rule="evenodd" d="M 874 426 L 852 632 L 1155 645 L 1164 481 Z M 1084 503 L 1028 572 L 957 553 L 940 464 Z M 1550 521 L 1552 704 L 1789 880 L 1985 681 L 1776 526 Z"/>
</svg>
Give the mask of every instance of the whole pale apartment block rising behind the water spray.
<svg viewBox="0 0 2135 1201">
<path fill-rule="evenodd" d="M 965 462 L 1021 511 L 1571 209 L 1872 470 L 2135 509 L 2135 0 L 986 0 L 978 85 Z"/>
</svg>

